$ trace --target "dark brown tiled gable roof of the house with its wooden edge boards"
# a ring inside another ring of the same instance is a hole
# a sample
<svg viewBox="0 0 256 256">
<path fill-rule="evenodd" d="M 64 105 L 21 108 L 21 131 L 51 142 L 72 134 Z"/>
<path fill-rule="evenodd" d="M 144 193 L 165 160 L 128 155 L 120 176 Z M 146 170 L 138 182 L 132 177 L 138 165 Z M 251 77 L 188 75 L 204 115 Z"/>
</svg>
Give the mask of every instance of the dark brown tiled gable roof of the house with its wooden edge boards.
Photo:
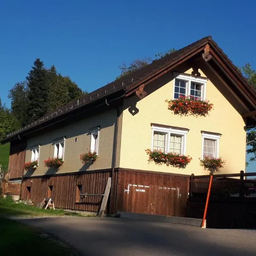
<svg viewBox="0 0 256 256">
<path fill-rule="evenodd" d="M 248 84 L 247 80 L 244 78 L 238 68 L 232 63 L 232 61 L 230 61 L 227 55 L 224 54 L 221 48 L 218 47 L 215 41 L 212 40 L 212 37 L 207 36 L 192 44 L 189 44 L 186 47 L 172 52 L 171 54 L 166 55 L 163 58 L 155 60 L 151 64 L 148 64 L 147 66 L 140 68 L 139 70 L 131 72 L 128 75 L 121 77 L 120 79 L 116 79 L 115 81 L 82 96 L 78 100 L 74 100 L 62 106 L 61 108 L 58 108 L 51 113 L 47 113 L 45 116 L 41 117 L 35 122 L 32 122 L 31 124 L 26 125 L 25 127 L 8 134 L 7 137 L 2 140 L 2 143 L 10 141 L 13 138 L 17 137 L 18 134 L 24 134 L 26 133 L 26 131 L 29 131 L 36 126 L 41 127 L 44 122 L 49 122 L 56 117 L 61 117 L 62 115 L 75 111 L 79 108 L 87 107 L 93 102 L 97 102 L 99 99 L 113 96 L 118 92 L 124 91 L 125 96 L 130 96 L 138 89 L 141 84 L 146 84 L 150 82 L 151 79 L 157 78 L 158 76 L 161 76 L 164 73 L 172 70 L 183 61 L 186 61 L 186 59 L 190 58 L 192 55 L 202 52 L 207 44 L 209 44 L 211 49 L 213 49 L 211 53 L 216 54 L 215 58 L 219 58 L 219 61 L 224 61 L 227 67 L 231 70 L 234 79 L 236 81 L 239 81 L 241 91 L 245 94 L 245 96 L 250 99 L 251 103 L 253 104 L 253 110 L 255 110 L 256 91 L 252 86 L 250 86 L 250 84 Z"/>
</svg>

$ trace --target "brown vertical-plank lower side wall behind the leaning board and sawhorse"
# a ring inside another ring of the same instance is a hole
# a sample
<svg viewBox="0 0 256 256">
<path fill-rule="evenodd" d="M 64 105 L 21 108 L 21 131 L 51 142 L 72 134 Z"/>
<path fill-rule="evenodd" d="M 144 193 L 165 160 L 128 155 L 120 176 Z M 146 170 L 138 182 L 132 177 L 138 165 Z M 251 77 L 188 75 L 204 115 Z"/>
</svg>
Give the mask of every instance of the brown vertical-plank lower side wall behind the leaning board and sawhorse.
<svg viewBox="0 0 256 256">
<path fill-rule="evenodd" d="M 21 198 L 27 199 L 30 188 L 30 199 L 37 204 L 47 198 L 48 188 L 52 187 L 52 198 L 56 208 L 75 209 L 98 212 L 101 205 L 101 196 L 84 196 L 76 202 L 77 185 L 82 185 L 82 194 L 104 194 L 108 177 L 112 170 L 55 175 L 51 177 L 24 178 L 22 183 Z M 116 187 L 117 172 L 114 172 L 113 186 Z M 115 202 L 111 203 L 111 212 L 115 212 Z"/>
</svg>

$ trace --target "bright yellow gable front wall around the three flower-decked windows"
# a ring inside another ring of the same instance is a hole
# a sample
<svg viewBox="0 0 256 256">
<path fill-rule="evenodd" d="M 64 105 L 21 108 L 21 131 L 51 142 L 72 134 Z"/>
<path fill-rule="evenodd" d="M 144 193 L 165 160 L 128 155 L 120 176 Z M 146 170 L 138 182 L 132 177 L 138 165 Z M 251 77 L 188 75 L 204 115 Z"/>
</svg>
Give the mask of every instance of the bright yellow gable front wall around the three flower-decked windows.
<svg viewBox="0 0 256 256">
<path fill-rule="evenodd" d="M 214 105 L 209 116 L 177 116 L 168 110 L 165 100 L 172 99 L 173 73 L 171 72 L 148 84 L 144 88 L 148 96 L 144 99 L 139 101 L 137 96 L 125 99 L 120 151 L 121 168 L 186 175 L 208 174 L 199 165 L 202 154 L 201 131 L 208 131 L 222 134 L 219 140 L 219 157 L 226 160 L 226 164 L 220 173 L 238 173 L 240 170 L 245 170 L 246 132 L 244 120 L 239 113 L 242 108 L 224 85 L 207 70 L 207 67 L 204 67 L 204 64 L 202 69 L 205 73 L 199 69 L 201 76 L 208 78 L 206 99 Z M 183 70 L 183 73 L 191 74 L 192 69 Z M 131 114 L 132 111 L 135 114 Z M 190 155 L 193 159 L 186 169 L 148 163 L 145 149 L 151 148 L 151 123 L 189 129 L 186 155 Z"/>
</svg>

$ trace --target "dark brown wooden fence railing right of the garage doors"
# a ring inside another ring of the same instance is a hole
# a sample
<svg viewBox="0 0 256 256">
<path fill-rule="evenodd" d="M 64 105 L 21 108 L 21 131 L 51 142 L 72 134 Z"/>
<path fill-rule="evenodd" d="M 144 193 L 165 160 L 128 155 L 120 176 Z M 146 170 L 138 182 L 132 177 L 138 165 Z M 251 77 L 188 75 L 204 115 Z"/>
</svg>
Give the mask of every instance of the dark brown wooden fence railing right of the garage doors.
<svg viewBox="0 0 256 256">
<path fill-rule="evenodd" d="M 213 175 L 211 196 L 256 197 L 256 178 L 247 178 L 252 176 L 256 172 Z M 208 186 L 209 175 L 191 175 L 189 195 L 206 195 Z"/>
</svg>

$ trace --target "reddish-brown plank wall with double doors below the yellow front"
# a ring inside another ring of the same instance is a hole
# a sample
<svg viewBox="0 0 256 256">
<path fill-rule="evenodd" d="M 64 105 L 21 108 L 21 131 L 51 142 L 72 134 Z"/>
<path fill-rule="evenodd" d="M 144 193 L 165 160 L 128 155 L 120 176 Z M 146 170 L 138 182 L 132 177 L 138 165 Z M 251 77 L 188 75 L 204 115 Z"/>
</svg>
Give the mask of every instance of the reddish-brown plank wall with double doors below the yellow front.
<svg viewBox="0 0 256 256">
<path fill-rule="evenodd" d="M 118 174 L 116 210 L 184 217 L 188 192 L 185 175 L 123 170 Z"/>
</svg>

